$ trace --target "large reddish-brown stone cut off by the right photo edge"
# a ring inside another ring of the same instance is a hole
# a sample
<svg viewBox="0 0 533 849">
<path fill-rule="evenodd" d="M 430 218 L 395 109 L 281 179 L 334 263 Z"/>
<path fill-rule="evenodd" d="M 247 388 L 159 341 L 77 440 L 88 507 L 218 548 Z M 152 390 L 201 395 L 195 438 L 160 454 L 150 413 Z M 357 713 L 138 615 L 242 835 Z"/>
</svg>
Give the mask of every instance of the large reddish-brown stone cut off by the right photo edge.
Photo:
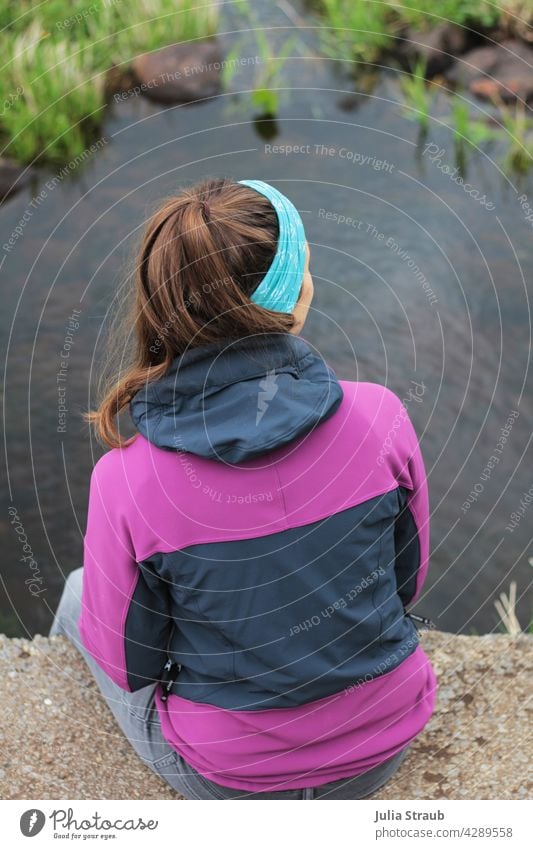
<svg viewBox="0 0 533 849">
<path fill-rule="evenodd" d="M 446 77 L 487 100 L 532 100 L 533 47 L 517 39 L 478 47 L 465 53 Z"/>
</svg>

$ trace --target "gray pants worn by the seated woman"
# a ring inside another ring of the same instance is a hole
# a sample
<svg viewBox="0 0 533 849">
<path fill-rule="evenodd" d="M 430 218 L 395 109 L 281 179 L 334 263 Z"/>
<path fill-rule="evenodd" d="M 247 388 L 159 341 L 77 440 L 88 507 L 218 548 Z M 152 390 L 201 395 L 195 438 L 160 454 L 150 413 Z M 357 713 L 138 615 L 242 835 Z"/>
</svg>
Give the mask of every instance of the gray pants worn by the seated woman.
<svg viewBox="0 0 533 849">
<path fill-rule="evenodd" d="M 63 634 L 76 646 L 141 760 L 186 799 L 362 799 L 375 793 L 398 769 L 408 747 L 355 778 L 343 778 L 303 790 L 251 793 L 223 787 L 204 778 L 164 739 L 154 702 L 156 685 L 143 687 L 136 693 L 121 690 L 83 647 L 78 631 L 82 571 L 76 569 L 67 579 L 50 636 Z"/>
</svg>

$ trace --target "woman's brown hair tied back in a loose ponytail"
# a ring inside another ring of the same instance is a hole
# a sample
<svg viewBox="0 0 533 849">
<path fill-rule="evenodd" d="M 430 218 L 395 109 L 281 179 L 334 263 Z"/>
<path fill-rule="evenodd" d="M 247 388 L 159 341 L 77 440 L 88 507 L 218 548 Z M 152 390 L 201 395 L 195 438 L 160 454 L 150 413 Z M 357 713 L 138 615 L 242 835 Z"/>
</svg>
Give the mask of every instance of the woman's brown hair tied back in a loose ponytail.
<svg viewBox="0 0 533 849">
<path fill-rule="evenodd" d="M 277 239 L 270 201 L 231 180 L 206 180 L 160 206 L 144 233 L 129 307 L 119 311 L 118 330 L 110 334 L 102 400 L 85 414 L 104 445 L 132 441 L 120 435 L 117 416 L 188 348 L 290 331 L 292 314 L 250 300 Z"/>
</svg>

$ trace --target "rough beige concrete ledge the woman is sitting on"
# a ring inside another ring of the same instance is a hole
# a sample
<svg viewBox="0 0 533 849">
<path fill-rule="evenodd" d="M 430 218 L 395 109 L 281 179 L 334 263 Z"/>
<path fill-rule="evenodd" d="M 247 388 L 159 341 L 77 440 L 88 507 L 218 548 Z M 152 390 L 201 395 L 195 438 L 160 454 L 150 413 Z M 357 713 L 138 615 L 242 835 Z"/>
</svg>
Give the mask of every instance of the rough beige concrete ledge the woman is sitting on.
<svg viewBox="0 0 533 849">
<path fill-rule="evenodd" d="M 533 638 L 426 632 L 422 642 L 437 710 L 373 798 L 530 797 Z M 1 798 L 181 798 L 138 760 L 65 639 L 0 635 L 0 676 Z"/>
</svg>

